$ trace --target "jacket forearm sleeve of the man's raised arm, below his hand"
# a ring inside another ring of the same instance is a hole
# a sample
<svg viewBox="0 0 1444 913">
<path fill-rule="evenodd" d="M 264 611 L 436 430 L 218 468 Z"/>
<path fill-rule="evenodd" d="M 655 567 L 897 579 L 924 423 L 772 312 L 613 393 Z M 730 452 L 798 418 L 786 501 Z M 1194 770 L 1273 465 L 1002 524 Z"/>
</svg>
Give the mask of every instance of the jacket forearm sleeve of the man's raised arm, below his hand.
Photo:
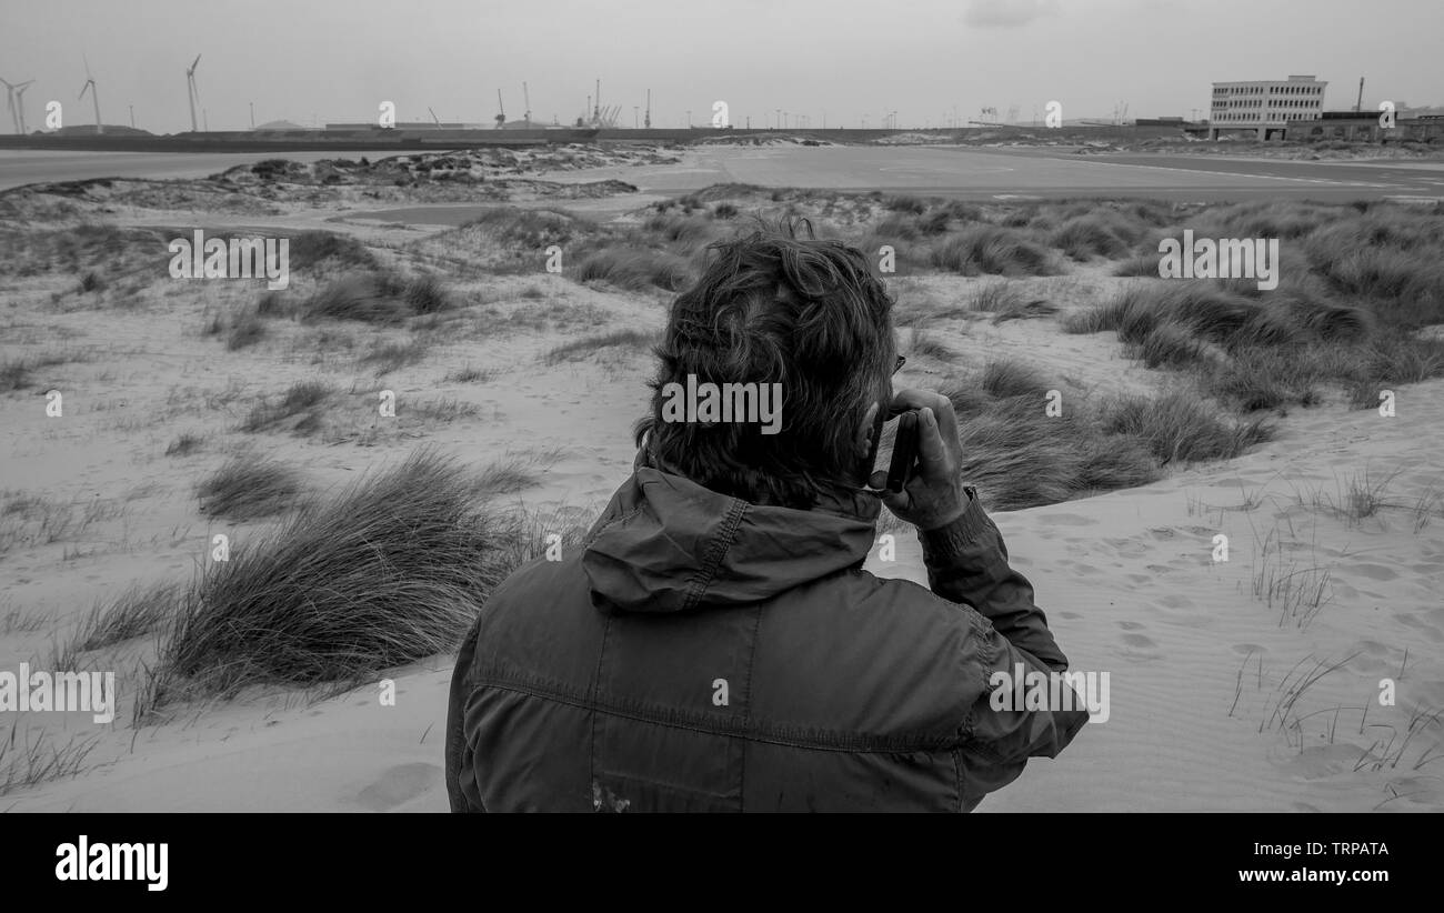
<svg viewBox="0 0 1444 913">
<path fill-rule="evenodd" d="M 1008 566 L 1008 546 L 973 488 L 967 488 L 967 498 L 962 517 L 918 532 L 928 587 L 950 602 L 978 610 L 1014 647 L 1064 672 L 1069 659 L 1053 639 L 1047 615 L 1032 602 L 1032 584 Z"/>
</svg>

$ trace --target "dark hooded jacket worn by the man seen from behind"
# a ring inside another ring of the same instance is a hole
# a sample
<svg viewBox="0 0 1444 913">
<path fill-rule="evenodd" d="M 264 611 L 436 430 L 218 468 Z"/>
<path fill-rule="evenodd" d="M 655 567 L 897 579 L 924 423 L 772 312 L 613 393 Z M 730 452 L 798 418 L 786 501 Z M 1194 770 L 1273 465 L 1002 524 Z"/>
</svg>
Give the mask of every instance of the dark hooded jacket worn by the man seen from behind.
<svg viewBox="0 0 1444 913">
<path fill-rule="evenodd" d="M 931 591 L 861 569 L 879 509 L 762 507 L 640 462 L 464 641 L 452 810 L 970 810 L 1054 757 L 1086 711 L 989 706 L 993 670 L 1067 660 L 976 497 L 923 535 Z"/>
</svg>

